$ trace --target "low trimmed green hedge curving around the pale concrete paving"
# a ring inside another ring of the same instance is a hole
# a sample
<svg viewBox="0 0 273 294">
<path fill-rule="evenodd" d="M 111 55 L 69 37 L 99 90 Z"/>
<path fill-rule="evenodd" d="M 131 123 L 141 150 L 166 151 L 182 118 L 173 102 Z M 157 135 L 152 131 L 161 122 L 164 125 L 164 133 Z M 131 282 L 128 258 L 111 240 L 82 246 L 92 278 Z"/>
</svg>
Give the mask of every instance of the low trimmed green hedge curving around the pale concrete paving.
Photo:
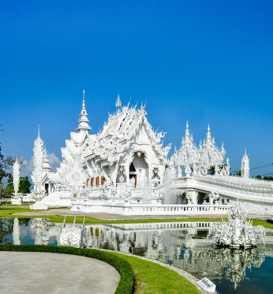
<svg viewBox="0 0 273 294">
<path fill-rule="evenodd" d="M 22 252 L 50 252 L 80 255 L 101 260 L 115 268 L 120 274 L 120 280 L 115 294 L 133 294 L 135 275 L 132 266 L 124 259 L 113 255 L 111 252 L 98 249 L 81 249 L 75 247 L 61 247 L 53 245 L 0 245 L 0 251 L 22 251 Z"/>
</svg>

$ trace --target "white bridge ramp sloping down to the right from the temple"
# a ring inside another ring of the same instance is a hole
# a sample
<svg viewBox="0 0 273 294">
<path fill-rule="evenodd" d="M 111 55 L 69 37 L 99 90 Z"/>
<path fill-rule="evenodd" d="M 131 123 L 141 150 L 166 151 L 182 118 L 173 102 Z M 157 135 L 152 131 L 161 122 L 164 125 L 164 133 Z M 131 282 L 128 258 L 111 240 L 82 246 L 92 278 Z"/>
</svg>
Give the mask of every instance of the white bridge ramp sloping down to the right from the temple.
<svg viewBox="0 0 273 294">
<path fill-rule="evenodd" d="M 190 176 L 173 179 L 170 189 L 177 194 L 185 193 L 193 204 L 198 203 L 200 193 L 205 193 L 210 204 L 221 198 L 230 202 L 239 199 L 249 214 L 273 215 L 273 182 L 270 181 L 238 176 Z"/>
</svg>

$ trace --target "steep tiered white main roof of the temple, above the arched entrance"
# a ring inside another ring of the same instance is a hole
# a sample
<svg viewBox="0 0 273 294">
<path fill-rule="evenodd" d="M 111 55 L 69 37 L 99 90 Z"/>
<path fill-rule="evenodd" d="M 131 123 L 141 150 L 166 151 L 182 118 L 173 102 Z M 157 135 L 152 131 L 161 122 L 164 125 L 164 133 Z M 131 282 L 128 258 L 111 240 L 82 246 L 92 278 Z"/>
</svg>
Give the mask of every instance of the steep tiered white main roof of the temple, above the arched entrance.
<svg viewBox="0 0 273 294">
<path fill-rule="evenodd" d="M 146 118 L 145 106 L 141 104 L 140 109 L 123 106 L 114 114 L 109 115 L 108 122 L 104 124 L 101 132 L 97 134 L 95 144 L 83 145 L 83 156 L 85 158 L 100 158 L 109 164 L 117 162 L 124 152 L 136 140 L 137 132 L 143 126 L 153 150 L 158 154 L 161 161 L 165 162 L 170 145 L 162 148 L 161 139 L 165 134 L 154 132 Z M 161 144 L 160 144 L 161 143 Z"/>
</svg>

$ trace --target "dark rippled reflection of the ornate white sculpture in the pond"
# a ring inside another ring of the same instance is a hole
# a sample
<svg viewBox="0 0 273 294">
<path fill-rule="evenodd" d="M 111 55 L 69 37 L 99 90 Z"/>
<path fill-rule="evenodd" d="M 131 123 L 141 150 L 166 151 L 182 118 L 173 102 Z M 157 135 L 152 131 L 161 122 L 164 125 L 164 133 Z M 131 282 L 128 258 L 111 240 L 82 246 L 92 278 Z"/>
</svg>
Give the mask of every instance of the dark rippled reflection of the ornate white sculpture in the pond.
<svg viewBox="0 0 273 294">
<path fill-rule="evenodd" d="M 246 269 L 259 268 L 265 260 L 266 252 L 257 248 L 216 248 L 209 252 L 212 260 L 220 262 L 226 270 L 226 279 L 233 283 L 236 289 L 246 276 Z"/>
</svg>

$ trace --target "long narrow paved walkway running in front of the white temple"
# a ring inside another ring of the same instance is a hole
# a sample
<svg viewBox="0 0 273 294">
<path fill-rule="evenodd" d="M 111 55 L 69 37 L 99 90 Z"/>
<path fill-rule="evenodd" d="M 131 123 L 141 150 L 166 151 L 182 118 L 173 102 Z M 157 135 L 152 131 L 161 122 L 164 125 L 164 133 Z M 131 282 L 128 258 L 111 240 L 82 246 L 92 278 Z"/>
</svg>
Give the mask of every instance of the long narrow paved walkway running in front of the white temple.
<svg viewBox="0 0 273 294">
<path fill-rule="evenodd" d="M 111 213 L 83 213 L 79 211 L 70 211 L 69 209 L 49 209 L 49 210 L 41 210 L 37 212 L 21 212 L 16 215 L 23 216 L 86 216 L 89 218 L 94 218 L 98 220 L 104 221 L 117 221 L 117 220 L 151 220 L 151 219 L 192 219 L 192 218 L 227 218 L 227 214 L 219 214 L 219 215 L 158 215 L 158 216 L 122 216 Z M 266 220 L 270 217 L 266 216 L 248 216 L 250 219 L 254 220 Z"/>
</svg>

